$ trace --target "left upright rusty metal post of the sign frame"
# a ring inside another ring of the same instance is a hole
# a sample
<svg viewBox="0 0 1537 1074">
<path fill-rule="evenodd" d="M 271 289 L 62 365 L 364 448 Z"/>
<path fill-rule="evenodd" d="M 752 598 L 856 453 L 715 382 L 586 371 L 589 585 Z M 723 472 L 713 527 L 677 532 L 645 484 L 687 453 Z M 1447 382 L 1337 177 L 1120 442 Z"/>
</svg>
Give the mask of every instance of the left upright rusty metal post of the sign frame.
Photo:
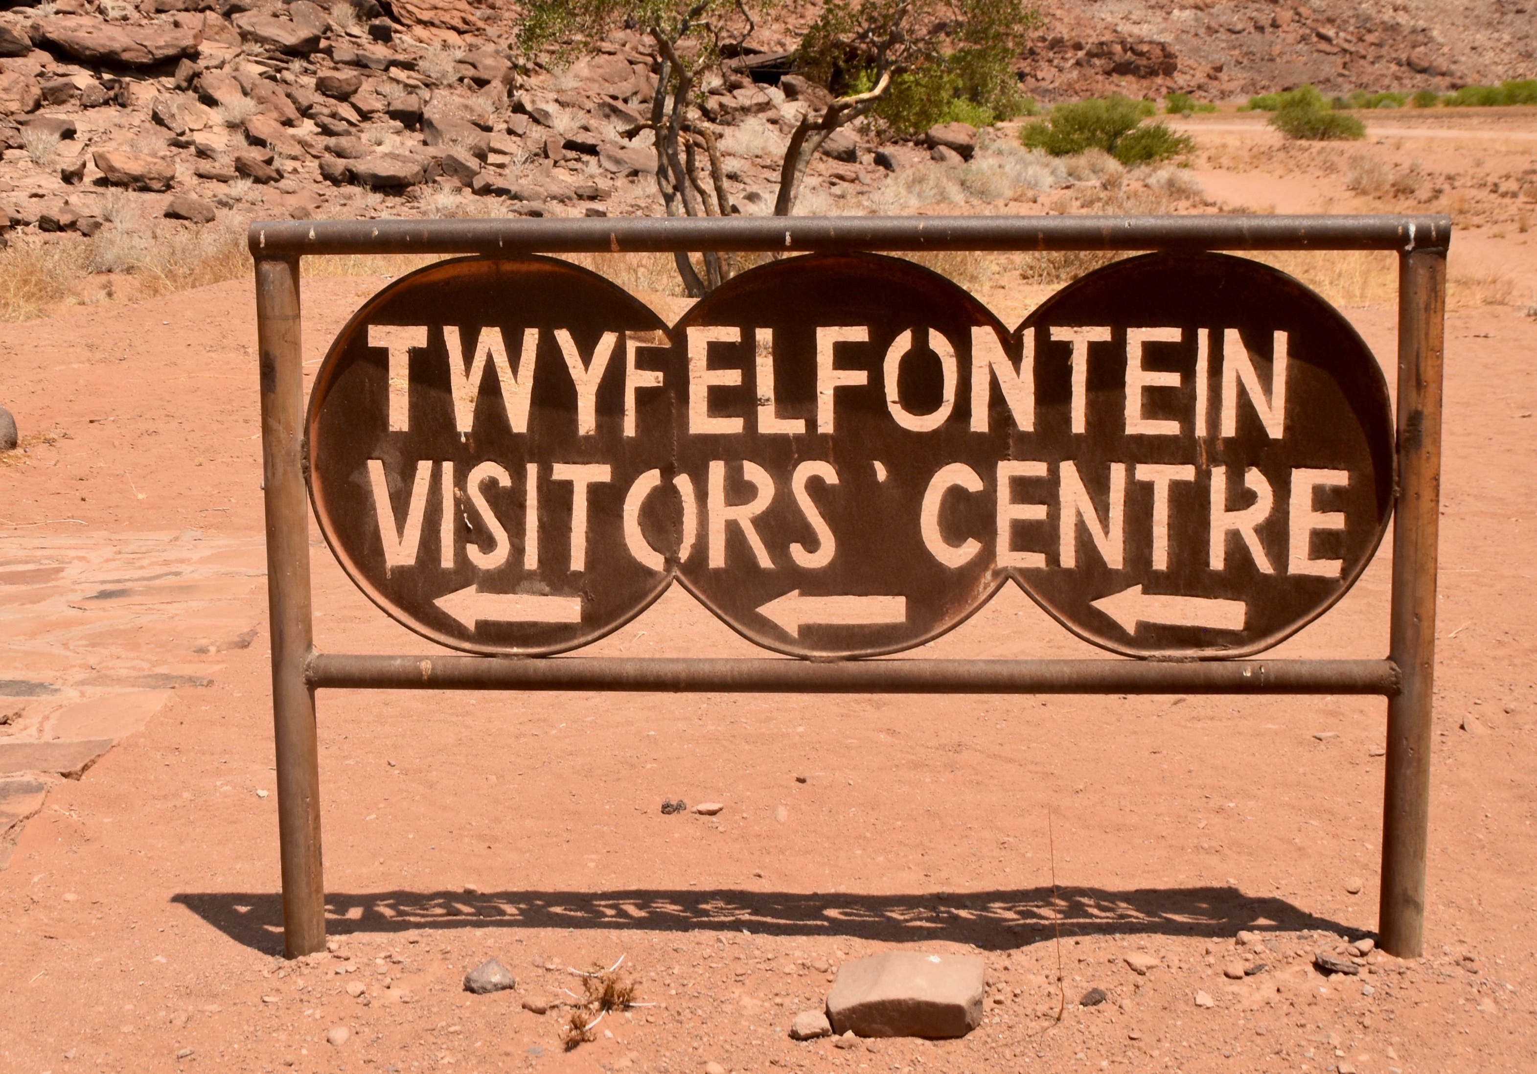
<svg viewBox="0 0 1537 1074">
<path fill-rule="evenodd" d="M 261 352 L 261 476 L 267 521 L 272 724 L 283 859 L 283 946 L 295 959 L 326 946 L 320 857 L 320 750 L 315 694 L 304 682 L 314 648 L 309 501 L 304 495 L 304 356 L 298 258 L 257 261 Z"/>
</svg>

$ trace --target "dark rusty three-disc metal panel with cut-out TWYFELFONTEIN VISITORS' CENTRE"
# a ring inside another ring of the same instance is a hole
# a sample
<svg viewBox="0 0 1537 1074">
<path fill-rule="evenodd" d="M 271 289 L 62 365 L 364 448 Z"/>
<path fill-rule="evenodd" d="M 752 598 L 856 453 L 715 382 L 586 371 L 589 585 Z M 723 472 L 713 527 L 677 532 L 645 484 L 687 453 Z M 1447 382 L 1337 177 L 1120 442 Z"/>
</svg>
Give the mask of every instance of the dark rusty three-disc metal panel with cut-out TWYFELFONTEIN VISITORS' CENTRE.
<svg viewBox="0 0 1537 1074">
<path fill-rule="evenodd" d="M 1207 254 L 1016 330 L 873 255 L 765 264 L 672 329 L 563 261 L 447 261 L 352 318 L 307 432 L 347 573 L 480 653 L 584 645 L 678 579 L 767 648 L 871 656 L 1013 578 L 1105 648 L 1236 656 L 1339 599 L 1393 504 L 1366 346 Z"/>
</svg>

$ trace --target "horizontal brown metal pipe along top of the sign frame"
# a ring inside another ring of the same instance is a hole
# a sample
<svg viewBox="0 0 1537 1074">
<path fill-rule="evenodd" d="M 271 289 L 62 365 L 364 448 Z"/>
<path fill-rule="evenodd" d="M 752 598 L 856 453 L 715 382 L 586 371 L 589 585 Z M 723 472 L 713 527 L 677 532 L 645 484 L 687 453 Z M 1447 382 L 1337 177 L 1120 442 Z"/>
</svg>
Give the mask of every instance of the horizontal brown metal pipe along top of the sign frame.
<svg viewBox="0 0 1537 1074">
<path fill-rule="evenodd" d="M 1416 250 L 1449 217 L 624 217 L 286 220 L 251 254 L 618 254 L 675 250 Z"/>
</svg>

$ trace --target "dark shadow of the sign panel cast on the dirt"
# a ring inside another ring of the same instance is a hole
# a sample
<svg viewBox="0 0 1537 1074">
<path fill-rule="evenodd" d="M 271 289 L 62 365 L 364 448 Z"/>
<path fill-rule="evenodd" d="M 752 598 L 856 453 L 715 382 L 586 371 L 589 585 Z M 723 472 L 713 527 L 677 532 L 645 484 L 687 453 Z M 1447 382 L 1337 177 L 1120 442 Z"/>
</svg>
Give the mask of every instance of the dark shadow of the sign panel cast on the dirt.
<svg viewBox="0 0 1537 1074">
<path fill-rule="evenodd" d="M 283 951 L 283 900 L 266 891 L 188 891 L 180 903 L 237 943 Z M 1054 902 L 1054 910 L 1053 910 Z M 1013 950 L 1054 934 L 1230 937 L 1239 930 L 1296 933 L 1346 926 L 1276 897 L 1236 888 L 1021 888 L 965 894 L 818 894 L 730 888 L 664 891 L 375 891 L 326 894 L 326 930 L 404 933 L 418 928 L 627 928 L 768 936 L 847 936 L 899 943 L 948 940 Z M 1359 931 L 1359 930 L 1357 930 Z"/>
</svg>

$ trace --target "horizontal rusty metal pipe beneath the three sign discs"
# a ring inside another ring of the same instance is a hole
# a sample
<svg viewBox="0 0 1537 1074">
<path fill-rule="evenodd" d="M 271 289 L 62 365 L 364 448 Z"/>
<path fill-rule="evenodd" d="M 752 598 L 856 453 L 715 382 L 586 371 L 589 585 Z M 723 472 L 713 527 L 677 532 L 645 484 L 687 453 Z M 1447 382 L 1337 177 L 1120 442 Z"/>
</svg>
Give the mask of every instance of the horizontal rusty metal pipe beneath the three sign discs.
<svg viewBox="0 0 1537 1074">
<path fill-rule="evenodd" d="M 1399 693 L 1393 661 L 934 661 L 317 653 L 310 688 L 664 693 Z"/>
</svg>

